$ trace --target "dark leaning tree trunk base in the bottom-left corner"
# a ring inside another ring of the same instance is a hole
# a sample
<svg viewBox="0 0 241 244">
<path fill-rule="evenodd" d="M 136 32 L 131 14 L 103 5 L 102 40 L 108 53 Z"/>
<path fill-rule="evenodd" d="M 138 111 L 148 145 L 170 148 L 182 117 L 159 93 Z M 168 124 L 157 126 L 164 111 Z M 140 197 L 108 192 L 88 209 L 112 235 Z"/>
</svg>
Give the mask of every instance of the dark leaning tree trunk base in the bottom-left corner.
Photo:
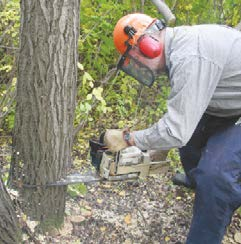
<svg viewBox="0 0 241 244">
<path fill-rule="evenodd" d="M 21 243 L 20 228 L 12 201 L 0 178 L 0 243 Z"/>
</svg>

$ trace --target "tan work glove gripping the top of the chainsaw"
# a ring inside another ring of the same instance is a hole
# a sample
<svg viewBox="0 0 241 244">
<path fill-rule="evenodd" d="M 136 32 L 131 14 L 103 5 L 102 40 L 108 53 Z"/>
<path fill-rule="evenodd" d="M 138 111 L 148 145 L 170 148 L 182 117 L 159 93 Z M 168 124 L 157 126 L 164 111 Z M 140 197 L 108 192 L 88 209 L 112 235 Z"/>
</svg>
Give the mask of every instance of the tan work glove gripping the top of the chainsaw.
<svg viewBox="0 0 241 244">
<path fill-rule="evenodd" d="M 104 136 L 104 143 L 108 150 L 111 152 L 118 152 L 130 145 L 127 144 L 127 141 L 124 139 L 126 134 L 126 130 L 116 130 L 116 129 L 109 129 L 106 130 Z"/>
</svg>

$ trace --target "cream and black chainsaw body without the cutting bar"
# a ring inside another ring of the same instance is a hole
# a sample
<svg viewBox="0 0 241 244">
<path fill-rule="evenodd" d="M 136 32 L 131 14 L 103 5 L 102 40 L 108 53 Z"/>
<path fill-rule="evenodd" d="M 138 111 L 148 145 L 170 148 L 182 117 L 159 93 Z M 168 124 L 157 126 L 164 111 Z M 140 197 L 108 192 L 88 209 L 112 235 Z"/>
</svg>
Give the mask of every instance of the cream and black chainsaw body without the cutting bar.
<svg viewBox="0 0 241 244">
<path fill-rule="evenodd" d="M 128 180 L 138 177 L 147 177 L 150 174 L 163 171 L 167 166 L 166 157 L 161 161 L 153 162 L 149 151 L 143 152 L 132 146 L 117 153 L 108 151 L 104 144 L 90 141 L 91 162 L 99 172 L 101 178 L 110 181 Z"/>
</svg>

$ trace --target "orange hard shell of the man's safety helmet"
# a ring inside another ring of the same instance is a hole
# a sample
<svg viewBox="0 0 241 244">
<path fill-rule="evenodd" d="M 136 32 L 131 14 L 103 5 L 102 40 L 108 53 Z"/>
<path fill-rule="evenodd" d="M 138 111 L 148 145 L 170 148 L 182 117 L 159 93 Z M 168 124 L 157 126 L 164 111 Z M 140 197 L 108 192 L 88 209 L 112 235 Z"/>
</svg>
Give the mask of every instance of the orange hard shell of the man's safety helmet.
<svg viewBox="0 0 241 244">
<path fill-rule="evenodd" d="M 113 32 L 113 39 L 116 49 L 121 54 L 124 54 L 127 49 L 126 41 L 129 40 L 129 36 L 124 31 L 126 26 L 131 26 L 137 31 L 133 38 L 129 40 L 131 45 L 135 45 L 139 37 L 155 20 L 156 19 L 141 13 L 128 14 L 122 17 L 117 22 Z"/>
</svg>

